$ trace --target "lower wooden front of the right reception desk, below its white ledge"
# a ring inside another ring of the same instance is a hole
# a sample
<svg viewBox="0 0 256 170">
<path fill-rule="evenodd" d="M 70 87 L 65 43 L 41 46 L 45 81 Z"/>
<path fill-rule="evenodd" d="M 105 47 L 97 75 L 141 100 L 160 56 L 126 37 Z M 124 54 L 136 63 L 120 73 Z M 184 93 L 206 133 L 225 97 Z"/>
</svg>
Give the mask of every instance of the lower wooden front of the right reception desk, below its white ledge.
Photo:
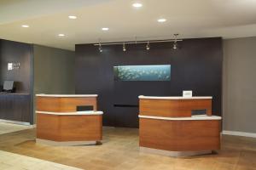
<svg viewBox="0 0 256 170">
<path fill-rule="evenodd" d="M 158 120 L 140 118 L 140 147 L 161 155 L 189 156 L 220 149 L 218 120 Z"/>
</svg>

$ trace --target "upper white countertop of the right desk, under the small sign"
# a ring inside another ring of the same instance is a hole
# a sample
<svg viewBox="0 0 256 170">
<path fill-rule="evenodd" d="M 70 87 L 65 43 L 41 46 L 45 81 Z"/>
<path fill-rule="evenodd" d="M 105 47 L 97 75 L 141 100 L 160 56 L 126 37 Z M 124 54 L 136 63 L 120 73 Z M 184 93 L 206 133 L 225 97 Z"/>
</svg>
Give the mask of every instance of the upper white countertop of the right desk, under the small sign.
<svg viewBox="0 0 256 170">
<path fill-rule="evenodd" d="M 212 96 L 193 96 L 191 98 L 184 98 L 183 96 L 138 96 L 139 99 L 212 99 Z"/>
</svg>

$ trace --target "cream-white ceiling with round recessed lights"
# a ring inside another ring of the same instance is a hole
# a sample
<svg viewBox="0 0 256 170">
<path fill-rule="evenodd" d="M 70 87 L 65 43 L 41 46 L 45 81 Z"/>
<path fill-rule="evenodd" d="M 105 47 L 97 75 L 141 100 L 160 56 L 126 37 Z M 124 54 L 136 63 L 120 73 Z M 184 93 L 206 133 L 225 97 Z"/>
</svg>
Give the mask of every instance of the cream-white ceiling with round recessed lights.
<svg viewBox="0 0 256 170">
<path fill-rule="evenodd" d="M 132 7 L 135 2 L 143 7 Z M 167 21 L 158 23 L 161 17 Z M 174 33 L 182 38 L 256 36 L 256 0 L 0 0 L 2 39 L 74 50 L 74 44 L 99 38 L 122 42 L 173 38 Z"/>
</svg>

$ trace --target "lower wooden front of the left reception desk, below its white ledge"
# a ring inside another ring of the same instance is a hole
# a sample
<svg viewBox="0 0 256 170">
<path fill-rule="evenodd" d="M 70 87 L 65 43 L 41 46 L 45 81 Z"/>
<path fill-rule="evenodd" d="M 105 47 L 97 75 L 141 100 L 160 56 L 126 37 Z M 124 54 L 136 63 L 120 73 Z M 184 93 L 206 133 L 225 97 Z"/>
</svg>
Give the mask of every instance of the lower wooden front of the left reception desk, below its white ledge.
<svg viewBox="0 0 256 170">
<path fill-rule="evenodd" d="M 37 142 L 52 145 L 96 144 L 102 140 L 102 115 L 38 113 Z"/>
</svg>

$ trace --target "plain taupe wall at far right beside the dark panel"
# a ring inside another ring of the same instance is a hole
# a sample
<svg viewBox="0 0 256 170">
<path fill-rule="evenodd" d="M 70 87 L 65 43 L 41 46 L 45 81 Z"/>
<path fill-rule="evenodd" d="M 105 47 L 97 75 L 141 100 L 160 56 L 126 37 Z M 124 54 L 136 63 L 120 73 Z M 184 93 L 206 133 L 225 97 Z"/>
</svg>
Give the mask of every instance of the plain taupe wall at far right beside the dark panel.
<svg viewBox="0 0 256 170">
<path fill-rule="evenodd" d="M 256 37 L 224 40 L 224 130 L 256 133 Z"/>
</svg>

